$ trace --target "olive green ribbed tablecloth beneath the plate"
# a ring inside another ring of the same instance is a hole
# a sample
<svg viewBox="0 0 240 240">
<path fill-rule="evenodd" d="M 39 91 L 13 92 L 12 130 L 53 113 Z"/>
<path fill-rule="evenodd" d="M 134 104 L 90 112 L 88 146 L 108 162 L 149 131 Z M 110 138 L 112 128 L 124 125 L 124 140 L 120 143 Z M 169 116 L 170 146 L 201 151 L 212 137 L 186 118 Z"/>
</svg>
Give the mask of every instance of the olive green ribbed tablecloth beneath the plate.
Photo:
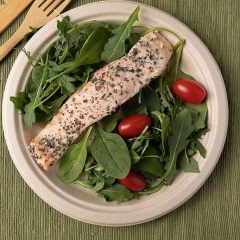
<svg viewBox="0 0 240 240">
<path fill-rule="evenodd" d="M 74 0 L 68 9 L 90 2 L 94 1 Z M 161 218 L 130 227 L 95 226 L 76 221 L 56 211 L 28 187 L 11 160 L 1 125 L 0 239 L 240 239 L 240 1 L 137 2 L 162 9 L 189 26 L 209 48 L 222 71 L 229 99 L 230 118 L 226 144 L 215 170 L 190 200 Z M 0 44 L 15 32 L 25 14 L 26 11 L 0 35 Z M 1 104 L 6 79 L 21 47 L 23 43 L 0 63 Z"/>
</svg>

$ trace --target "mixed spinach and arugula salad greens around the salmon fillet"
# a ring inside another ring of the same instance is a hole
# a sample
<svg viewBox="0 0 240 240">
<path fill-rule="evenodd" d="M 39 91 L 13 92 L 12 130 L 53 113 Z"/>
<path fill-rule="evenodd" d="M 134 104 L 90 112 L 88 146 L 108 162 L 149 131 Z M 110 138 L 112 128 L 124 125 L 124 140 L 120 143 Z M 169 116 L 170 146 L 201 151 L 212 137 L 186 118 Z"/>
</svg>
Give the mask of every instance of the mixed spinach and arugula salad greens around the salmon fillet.
<svg viewBox="0 0 240 240">
<path fill-rule="evenodd" d="M 180 170 L 198 173 L 194 155 L 199 152 L 203 158 L 206 156 L 206 149 L 199 141 L 208 131 L 206 101 L 187 103 L 172 91 L 176 79 L 194 80 L 180 68 L 185 41 L 165 28 L 133 25 L 139 10 L 137 7 L 122 25 L 101 21 L 74 25 L 69 16 L 63 17 L 57 22 L 60 39 L 50 45 L 44 56 L 35 60 L 23 50 L 33 70 L 25 91 L 11 97 L 31 129 L 36 122 L 49 121 L 94 71 L 124 56 L 147 32 L 168 31 L 178 39 L 167 71 L 118 111 L 91 126 L 61 159 L 57 172 L 61 181 L 89 188 L 106 201 L 127 201 L 157 192 L 162 186 L 170 185 Z M 138 27 L 144 31 L 132 31 Z M 139 136 L 124 138 L 117 130 L 119 112 L 124 117 L 147 115 L 151 125 Z M 91 132 L 94 134 L 89 137 Z M 118 181 L 130 170 L 143 176 L 144 189 L 131 191 Z"/>
</svg>

